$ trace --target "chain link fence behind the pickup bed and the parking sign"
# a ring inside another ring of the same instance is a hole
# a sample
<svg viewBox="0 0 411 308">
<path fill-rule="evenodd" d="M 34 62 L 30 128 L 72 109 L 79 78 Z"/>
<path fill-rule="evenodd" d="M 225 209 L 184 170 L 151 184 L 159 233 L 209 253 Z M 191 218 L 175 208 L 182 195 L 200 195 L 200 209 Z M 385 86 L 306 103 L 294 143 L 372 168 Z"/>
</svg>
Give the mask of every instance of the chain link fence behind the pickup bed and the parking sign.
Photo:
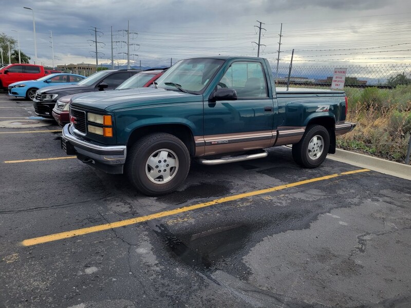
<svg viewBox="0 0 411 308">
<path fill-rule="evenodd" d="M 345 68 L 345 86 L 392 88 L 397 85 L 411 84 L 411 64 L 378 65 L 293 65 L 290 85 L 306 87 L 331 87 L 334 69 Z M 287 85 L 289 66 L 271 65 L 274 80 L 278 86 Z"/>
</svg>

